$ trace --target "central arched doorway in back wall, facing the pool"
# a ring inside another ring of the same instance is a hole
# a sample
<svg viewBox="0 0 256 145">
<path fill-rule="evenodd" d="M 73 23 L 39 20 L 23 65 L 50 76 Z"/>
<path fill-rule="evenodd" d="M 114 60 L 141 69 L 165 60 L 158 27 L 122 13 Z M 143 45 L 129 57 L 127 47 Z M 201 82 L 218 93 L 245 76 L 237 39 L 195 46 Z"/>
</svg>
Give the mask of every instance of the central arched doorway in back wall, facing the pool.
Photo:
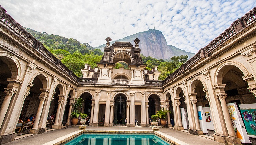
<svg viewBox="0 0 256 145">
<path fill-rule="evenodd" d="M 114 124 L 125 124 L 126 118 L 126 96 L 117 94 L 115 96 Z"/>
</svg>

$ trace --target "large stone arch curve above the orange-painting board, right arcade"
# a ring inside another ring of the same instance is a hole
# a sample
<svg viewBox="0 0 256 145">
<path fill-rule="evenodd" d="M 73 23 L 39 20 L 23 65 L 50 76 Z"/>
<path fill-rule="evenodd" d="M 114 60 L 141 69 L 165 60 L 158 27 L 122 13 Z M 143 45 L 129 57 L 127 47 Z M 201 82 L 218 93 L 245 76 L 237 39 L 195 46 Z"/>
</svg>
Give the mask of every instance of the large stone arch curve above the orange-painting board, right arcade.
<svg viewBox="0 0 256 145">
<path fill-rule="evenodd" d="M 214 73 L 214 84 L 222 84 L 222 79 L 224 75 L 233 67 L 237 67 L 238 69 L 240 69 L 244 76 L 249 74 L 246 68 L 241 63 L 235 61 L 225 61 L 218 65 Z"/>
</svg>

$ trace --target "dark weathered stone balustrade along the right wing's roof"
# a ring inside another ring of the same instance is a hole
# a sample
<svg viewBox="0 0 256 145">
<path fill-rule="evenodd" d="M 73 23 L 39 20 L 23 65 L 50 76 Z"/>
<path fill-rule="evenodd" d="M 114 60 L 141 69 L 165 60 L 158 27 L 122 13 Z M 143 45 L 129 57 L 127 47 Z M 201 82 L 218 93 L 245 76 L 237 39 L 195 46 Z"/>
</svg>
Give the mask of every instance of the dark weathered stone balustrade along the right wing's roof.
<svg viewBox="0 0 256 145">
<path fill-rule="evenodd" d="M 186 63 L 181 65 L 181 67 L 179 67 L 176 71 L 174 71 L 172 74 L 170 74 L 168 77 L 166 77 L 163 80 L 163 84 L 167 83 L 170 80 L 173 80 L 173 78 L 177 77 L 178 75 L 185 73 L 185 71 L 187 69 L 190 69 L 191 66 L 195 65 L 196 62 L 200 61 L 202 58 L 211 56 L 211 53 L 214 52 L 214 50 L 216 48 L 220 47 L 221 44 L 228 41 L 230 38 L 232 38 L 234 35 L 236 35 L 242 29 L 244 29 L 248 25 L 255 22 L 255 20 L 256 20 L 256 7 L 254 7 L 251 11 L 246 13 L 240 19 L 237 19 L 236 21 L 234 21 L 232 23 L 232 26 L 230 26 L 228 29 L 226 29 L 217 38 L 212 40 L 204 48 L 200 49 L 199 52 L 195 56 L 193 56 Z"/>
</svg>

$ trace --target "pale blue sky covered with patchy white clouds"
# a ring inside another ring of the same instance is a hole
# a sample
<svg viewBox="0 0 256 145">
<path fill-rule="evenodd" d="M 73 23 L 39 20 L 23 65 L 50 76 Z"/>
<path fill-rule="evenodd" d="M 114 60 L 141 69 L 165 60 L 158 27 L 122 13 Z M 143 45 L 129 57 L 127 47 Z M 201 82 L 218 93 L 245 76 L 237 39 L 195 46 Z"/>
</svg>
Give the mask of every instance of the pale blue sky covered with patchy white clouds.
<svg viewBox="0 0 256 145">
<path fill-rule="evenodd" d="M 0 0 L 24 27 L 98 46 L 155 29 L 167 44 L 196 53 L 255 0 Z"/>
</svg>

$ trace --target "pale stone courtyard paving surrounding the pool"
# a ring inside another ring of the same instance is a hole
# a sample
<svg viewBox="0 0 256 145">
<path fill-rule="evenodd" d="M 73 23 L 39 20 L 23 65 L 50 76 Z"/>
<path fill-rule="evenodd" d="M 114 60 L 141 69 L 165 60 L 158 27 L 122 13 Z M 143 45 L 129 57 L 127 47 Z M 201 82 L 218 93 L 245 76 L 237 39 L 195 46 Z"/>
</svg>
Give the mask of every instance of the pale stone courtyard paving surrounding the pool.
<svg viewBox="0 0 256 145">
<path fill-rule="evenodd" d="M 42 145 L 42 144 L 53 144 L 57 140 L 63 140 L 63 138 L 66 138 L 65 136 L 70 135 L 71 133 L 76 134 L 78 132 L 78 126 L 76 127 L 68 127 L 68 128 L 63 128 L 59 130 L 53 130 L 53 131 L 48 131 L 43 134 L 37 134 L 37 135 L 32 135 L 24 138 L 20 138 L 18 140 L 12 141 L 10 143 L 4 144 L 4 145 Z M 87 126 L 86 130 L 88 131 L 152 131 L 151 127 L 148 128 L 128 128 L 128 127 L 90 127 Z M 81 131 L 81 130 L 80 130 Z M 167 135 L 170 135 L 178 141 L 184 142 L 184 144 L 189 144 L 189 145 L 223 145 L 221 143 L 218 143 L 216 141 L 213 141 L 211 139 L 208 139 L 203 136 L 197 136 L 197 135 L 191 135 L 187 132 L 184 131 L 177 131 L 172 128 L 160 128 L 160 132 L 165 133 Z M 19 136 L 22 137 L 22 136 Z M 16 138 L 17 139 L 17 138 Z M 254 144 L 254 143 L 253 143 Z"/>
</svg>

